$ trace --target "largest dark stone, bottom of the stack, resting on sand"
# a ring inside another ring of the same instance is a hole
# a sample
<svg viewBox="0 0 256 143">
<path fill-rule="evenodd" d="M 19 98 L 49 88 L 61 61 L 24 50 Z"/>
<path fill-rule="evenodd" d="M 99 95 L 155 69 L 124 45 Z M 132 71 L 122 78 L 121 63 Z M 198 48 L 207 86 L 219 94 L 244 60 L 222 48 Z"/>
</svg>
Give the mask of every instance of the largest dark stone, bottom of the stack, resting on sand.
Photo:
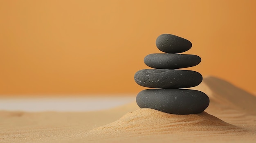
<svg viewBox="0 0 256 143">
<path fill-rule="evenodd" d="M 146 89 L 139 92 L 136 102 L 140 108 L 152 108 L 171 114 L 197 114 L 209 106 L 209 97 L 189 89 Z"/>
</svg>

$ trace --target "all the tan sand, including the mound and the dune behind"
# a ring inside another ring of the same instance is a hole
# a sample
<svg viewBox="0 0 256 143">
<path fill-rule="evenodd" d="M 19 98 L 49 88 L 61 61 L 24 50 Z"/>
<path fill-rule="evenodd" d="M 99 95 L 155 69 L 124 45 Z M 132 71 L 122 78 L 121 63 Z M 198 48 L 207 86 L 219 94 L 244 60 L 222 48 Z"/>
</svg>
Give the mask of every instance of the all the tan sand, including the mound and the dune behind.
<svg viewBox="0 0 256 143">
<path fill-rule="evenodd" d="M 256 142 L 254 95 L 216 77 L 192 89 L 210 98 L 200 114 L 139 109 L 135 102 L 96 112 L 0 111 L 0 142 Z"/>
</svg>

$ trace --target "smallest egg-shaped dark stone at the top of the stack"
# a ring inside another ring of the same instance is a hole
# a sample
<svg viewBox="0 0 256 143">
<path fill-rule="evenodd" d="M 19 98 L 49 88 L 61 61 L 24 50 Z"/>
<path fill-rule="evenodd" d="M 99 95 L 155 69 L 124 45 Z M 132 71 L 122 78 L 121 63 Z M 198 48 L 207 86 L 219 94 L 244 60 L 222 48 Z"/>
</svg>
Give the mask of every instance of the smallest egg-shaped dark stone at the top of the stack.
<svg viewBox="0 0 256 143">
<path fill-rule="evenodd" d="M 171 34 L 162 34 L 157 37 L 157 48 L 165 53 L 182 53 L 192 47 L 192 43 L 182 37 Z"/>
</svg>

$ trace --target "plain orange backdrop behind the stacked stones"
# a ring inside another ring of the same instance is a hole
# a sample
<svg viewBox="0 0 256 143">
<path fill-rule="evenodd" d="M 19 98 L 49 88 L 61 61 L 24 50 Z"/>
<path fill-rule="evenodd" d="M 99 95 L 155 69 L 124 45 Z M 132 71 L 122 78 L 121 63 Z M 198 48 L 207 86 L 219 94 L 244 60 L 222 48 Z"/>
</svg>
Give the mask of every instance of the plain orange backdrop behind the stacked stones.
<svg viewBox="0 0 256 143">
<path fill-rule="evenodd" d="M 143 59 L 171 33 L 202 62 L 187 68 L 251 93 L 255 0 L 0 0 L 0 95 L 137 93 Z"/>
</svg>

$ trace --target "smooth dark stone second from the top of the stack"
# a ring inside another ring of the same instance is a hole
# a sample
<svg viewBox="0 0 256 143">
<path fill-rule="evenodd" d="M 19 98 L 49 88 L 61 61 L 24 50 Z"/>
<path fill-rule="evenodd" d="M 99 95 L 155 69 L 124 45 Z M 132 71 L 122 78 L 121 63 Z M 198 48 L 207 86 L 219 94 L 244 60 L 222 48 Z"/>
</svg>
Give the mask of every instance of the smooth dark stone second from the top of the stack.
<svg viewBox="0 0 256 143">
<path fill-rule="evenodd" d="M 197 55 L 186 54 L 149 54 L 144 58 L 144 63 L 151 68 L 177 69 L 198 65 L 201 58 Z"/>
</svg>

